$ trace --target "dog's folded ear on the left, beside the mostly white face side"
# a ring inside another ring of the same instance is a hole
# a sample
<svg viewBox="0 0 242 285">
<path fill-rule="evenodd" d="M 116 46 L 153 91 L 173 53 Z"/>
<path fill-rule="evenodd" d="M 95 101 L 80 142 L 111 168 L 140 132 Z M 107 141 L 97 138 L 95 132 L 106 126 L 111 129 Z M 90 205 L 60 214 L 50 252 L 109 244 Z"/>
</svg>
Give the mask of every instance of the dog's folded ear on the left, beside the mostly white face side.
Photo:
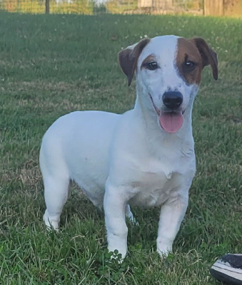
<svg viewBox="0 0 242 285">
<path fill-rule="evenodd" d="M 128 46 L 128 48 L 123 49 L 123 51 L 119 53 L 119 65 L 128 78 L 128 86 L 131 85 L 133 74 L 137 66 L 138 56 L 140 56 L 141 51 L 143 51 L 143 48 L 149 41 L 148 38 L 143 38 L 143 40 L 133 46 Z"/>
</svg>

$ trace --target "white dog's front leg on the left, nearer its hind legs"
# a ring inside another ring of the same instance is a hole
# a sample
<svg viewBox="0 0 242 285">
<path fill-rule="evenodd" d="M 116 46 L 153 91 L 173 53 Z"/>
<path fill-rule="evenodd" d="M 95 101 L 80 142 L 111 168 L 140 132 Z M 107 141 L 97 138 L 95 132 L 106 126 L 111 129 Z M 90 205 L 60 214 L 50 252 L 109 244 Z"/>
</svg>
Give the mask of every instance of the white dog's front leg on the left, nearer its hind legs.
<svg viewBox="0 0 242 285">
<path fill-rule="evenodd" d="M 121 189 L 106 185 L 104 212 L 109 252 L 117 249 L 119 254 L 122 254 L 122 259 L 127 252 L 126 204 L 125 195 Z"/>
</svg>

